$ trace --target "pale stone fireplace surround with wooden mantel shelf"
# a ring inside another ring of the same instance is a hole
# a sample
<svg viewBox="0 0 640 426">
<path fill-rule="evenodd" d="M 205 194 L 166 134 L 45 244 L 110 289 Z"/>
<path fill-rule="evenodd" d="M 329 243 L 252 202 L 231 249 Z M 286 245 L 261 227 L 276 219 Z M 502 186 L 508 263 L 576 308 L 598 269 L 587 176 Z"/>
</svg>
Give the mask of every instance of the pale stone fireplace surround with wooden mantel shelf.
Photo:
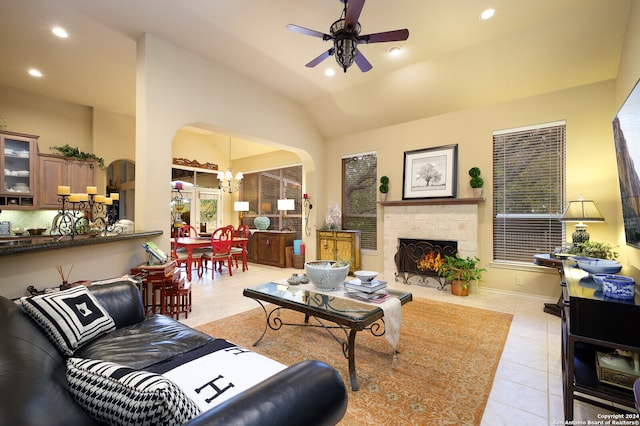
<svg viewBox="0 0 640 426">
<path fill-rule="evenodd" d="M 437 274 L 398 274 L 395 254 L 402 240 L 455 242 L 460 256 L 478 255 L 478 203 L 480 198 L 438 198 L 381 202 L 384 208 L 384 277 L 407 284 L 433 282 Z M 421 247 L 418 250 L 422 250 Z M 448 250 L 448 249 L 447 249 Z M 447 253 L 448 254 L 448 253 Z M 455 254 L 455 252 L 454 252 Z"/>
</svg>

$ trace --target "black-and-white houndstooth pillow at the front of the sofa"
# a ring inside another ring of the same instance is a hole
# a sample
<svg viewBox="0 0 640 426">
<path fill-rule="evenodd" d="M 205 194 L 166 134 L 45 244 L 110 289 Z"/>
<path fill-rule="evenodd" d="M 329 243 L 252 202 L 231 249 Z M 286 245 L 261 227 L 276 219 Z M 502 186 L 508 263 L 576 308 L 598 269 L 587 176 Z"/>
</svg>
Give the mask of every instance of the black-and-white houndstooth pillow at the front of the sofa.
<svg viewBox="0 0 640 426">
<path fill-rule="evenodd" d="M 112 362 L 69 358 L 67 382 L 94 419 L 117 425 L 178 425 L 200 409 L 169 379 Z"/>
</svg>

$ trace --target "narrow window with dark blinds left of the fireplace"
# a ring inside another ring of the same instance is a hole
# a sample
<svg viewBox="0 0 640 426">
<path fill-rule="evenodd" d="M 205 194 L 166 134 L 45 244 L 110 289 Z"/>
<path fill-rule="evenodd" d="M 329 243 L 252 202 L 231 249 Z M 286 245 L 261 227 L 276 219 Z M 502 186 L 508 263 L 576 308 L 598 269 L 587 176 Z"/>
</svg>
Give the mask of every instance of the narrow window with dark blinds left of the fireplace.
<svg viewBox="0 0 640 426">
<path fill-rule="evenodd" d="M 375 153 L 342 159 L 342 228 L 359 230 L 361 247 L 377 248 L 377 169 Z"/>
</svg>

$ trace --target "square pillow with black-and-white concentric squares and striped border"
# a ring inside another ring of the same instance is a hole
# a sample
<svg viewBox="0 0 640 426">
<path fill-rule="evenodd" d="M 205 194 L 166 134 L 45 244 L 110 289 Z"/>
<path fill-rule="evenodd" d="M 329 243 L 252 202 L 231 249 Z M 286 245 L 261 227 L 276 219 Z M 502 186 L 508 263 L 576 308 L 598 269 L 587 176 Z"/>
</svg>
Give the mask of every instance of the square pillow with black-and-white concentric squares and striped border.
<svg viewBox="0 0 640 426">
<path fill-rule="evenodd" d="M 116 328 L 111 315 L 85 286 L 23 297 L 21 302 L 22 309 L 67 356 L 73 355 L 83 344 Z"/>
</svg>

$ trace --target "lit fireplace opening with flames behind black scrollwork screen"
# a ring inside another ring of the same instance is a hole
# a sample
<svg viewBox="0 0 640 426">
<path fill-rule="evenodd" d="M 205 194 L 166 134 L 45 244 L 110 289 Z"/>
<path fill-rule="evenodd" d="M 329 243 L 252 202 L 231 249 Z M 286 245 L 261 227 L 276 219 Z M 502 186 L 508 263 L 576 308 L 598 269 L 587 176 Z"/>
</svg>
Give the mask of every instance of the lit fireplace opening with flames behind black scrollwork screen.
<svg viewBox="0 0 640 426">
<path fill-rule="evenodd" d="M 425 239 L 399 238 L 396 263 L 396 281 L 402 279 L 405 284 L 412 282 L 426 284 L 429 277 L 438 277 L 438 267 L 445 256 L 455 256 L 458 252 L 456 241 L 437 241 Z M 444 280 L 438 280 L 440 288 Z"/>
</svg>

